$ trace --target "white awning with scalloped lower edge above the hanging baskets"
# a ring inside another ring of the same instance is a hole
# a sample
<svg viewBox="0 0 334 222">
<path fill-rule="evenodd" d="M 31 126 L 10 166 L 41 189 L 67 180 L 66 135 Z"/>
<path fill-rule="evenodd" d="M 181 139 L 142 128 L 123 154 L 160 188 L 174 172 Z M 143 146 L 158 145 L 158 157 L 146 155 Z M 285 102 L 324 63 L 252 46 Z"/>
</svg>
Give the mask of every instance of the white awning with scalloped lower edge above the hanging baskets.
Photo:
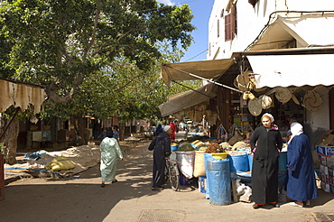
<svg viewBox="0 0 334 222">
<path fill-rule="evenodd" d="M 334 54 L 247 55 L 247 59 L 257 74 L 256 88 L 334 84 Z"/>
</svg>

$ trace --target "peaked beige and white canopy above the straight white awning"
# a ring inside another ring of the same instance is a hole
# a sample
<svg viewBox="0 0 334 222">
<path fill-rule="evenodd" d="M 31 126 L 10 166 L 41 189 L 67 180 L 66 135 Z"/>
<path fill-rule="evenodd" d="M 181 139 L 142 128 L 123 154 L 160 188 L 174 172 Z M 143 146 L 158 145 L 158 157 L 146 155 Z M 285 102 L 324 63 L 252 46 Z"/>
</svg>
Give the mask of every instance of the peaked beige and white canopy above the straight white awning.
<svg viewBox="0 0 334 222">
<path fill-rule="evenodd" d="M 263 51 L 285 48 L 294 40 L 297 47 L 309 45 L 333 45 L 334 23 L 332 14 L 302 14 L 290 13 L 278 15 L 275 20 L 268 23 L 246 49 L 246 51 Z"/>
</svg>

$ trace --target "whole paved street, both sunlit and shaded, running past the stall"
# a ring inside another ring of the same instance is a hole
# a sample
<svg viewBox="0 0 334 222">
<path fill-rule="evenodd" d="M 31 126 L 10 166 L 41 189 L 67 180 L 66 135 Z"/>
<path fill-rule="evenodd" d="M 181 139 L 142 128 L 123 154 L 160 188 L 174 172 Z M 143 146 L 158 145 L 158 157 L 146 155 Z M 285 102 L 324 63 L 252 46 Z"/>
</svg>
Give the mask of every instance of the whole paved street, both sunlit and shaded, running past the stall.
<svg viewBox="0 0 334 222">
<path fill-rule="evenodd" d="M 118 182 L 100 187 L 99 166 L 67 179 L 23 179 L 5 187 L 0 221 L 332 221 L 334 194 L 319 190 L 320 198 L 307 208 L 283 203 L 281 208 L 253 209 L 252 203 L 209 204 L 197 180 L 181 186 L 151 190 L 150 141 L 126 147 L 118 162 Z M 326 217 L 327 215 L 327 217 Z M 331 217 L 329 219 L 329 217 Z M 315 218 L 318 217 L 318 220 Z M 322 217 L 322 219 L 320 219 Z"/>
</svg>

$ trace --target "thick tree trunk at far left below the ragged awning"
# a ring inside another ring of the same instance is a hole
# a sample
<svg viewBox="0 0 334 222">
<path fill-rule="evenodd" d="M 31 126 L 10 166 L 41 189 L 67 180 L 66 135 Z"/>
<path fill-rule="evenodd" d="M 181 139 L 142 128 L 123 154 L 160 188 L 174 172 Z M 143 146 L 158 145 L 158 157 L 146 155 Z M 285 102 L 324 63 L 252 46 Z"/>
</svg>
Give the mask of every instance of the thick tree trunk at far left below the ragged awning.
<svg viewBox="0 0 334 222">
<path fill-rule="evenodd" d="M 16 163 L 17 136 L 19 135 L 19 120 L 14 117 L 5 133 L 5 159 L 10 165 Z"/>
</svg>

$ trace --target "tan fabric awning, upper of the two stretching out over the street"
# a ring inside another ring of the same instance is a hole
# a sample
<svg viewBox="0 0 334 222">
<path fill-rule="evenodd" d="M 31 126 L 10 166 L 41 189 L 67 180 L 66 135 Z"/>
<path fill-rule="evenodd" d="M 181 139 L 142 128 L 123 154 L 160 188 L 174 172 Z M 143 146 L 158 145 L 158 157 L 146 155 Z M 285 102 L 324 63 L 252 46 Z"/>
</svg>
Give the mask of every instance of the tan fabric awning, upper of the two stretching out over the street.
<svg viewBox="0 0 334 222">
<path fill-rule="evenodd" d="M 191 74 L 204 79 L 215 79 L 233 64 L 233 59 L 201 60 L 162 64 L 162 79 L 169 86 L 172 80 L 196 80 Z"/>
</svg>

